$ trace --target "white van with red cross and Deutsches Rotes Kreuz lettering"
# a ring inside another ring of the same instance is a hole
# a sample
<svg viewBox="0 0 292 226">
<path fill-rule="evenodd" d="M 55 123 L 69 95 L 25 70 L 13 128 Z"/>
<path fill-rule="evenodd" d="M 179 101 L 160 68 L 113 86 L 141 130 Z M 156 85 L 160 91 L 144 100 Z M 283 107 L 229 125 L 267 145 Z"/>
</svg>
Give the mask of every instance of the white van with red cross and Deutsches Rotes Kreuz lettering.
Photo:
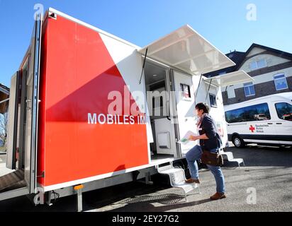
<svg viewBox="0 0 292 226">
<path fill-rule="evenodd" d="M 292 146 L 292 92 L 227 105 L 228 141 L 237 148 L 247 143 Z"/>
</svg>

